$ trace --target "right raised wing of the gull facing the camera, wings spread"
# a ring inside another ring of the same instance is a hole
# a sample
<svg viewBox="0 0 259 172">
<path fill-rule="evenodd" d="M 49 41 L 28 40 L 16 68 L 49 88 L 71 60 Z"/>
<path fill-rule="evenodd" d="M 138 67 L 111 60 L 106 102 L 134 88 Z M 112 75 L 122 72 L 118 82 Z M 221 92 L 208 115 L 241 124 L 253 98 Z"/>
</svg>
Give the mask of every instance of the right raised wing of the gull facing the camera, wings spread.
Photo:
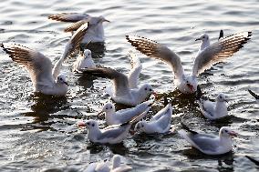
<svg viewBox="0 0 259 172">
<path fill-rule="evenodd" d="M 194 61 L 192 76 L 198 76 L 212 65 L 223 62 L 233 56 L 250 39 L 252 32 L 242 32 L 220 39 L 218 42 L 206 47 Z"/>
</svg>

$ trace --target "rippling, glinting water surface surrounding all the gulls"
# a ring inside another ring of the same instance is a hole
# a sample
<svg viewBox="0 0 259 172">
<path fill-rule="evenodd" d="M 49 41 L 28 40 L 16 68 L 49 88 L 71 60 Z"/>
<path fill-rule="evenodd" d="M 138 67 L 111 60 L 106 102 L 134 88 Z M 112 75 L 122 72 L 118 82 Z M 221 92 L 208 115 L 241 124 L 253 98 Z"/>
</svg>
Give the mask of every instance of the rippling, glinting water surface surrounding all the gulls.
<svg viewBox="0 0 259 172">
<path fill-rule="evenodd" d="M 221 126 L 231 126 L 240 136 L 234 138 L 233 152 L 204 156 L 192 149 L 176 131 L 165 136 L 129 137 L 119 146 L 96 146 L 86 139 L 78 121 L 97 118 L 97 112 L 108 101 L 104 96 L 109 80 L 75 76 L 73 58 L 64 67 L 70 88 L 64 98 L 34 96 L 26 71 L 1 53 L 0 66 L 0 169 L 1 171 L 42 171 L 58 168 L 83 171 L 89 162 L 107 159 L 113 154 L 133 171 L 257 171 L 258 167 L 244 155 L 259 159 L 259 106 L 247 92 L 259 93 L 259 2 L 248 1 L 22 1 L 0 2 L 1 42 L 15 42 L 35 48 L 54 62 L 61 56 L 69 39 L 62 32 L 67 24 L 47 20 L 60 12 L 88 12 L 104 15 L 106 44 L 93 47 L 95 62 L 129 72 L 128 52 L 132 47 L 125 35 L 143 35 L 165 44 L 179 55 L 187 71 L 192 69 L 203 33 L 217 40 L 219 30 L 225 35 L 253 31 L 252 40 L 228 60 L 213 66 L 198 78 L 206 96 L 219 92 L 229 97 L 229 119 L 213 123 L 204 119 L 192 99 L 174 90 L 171 68 L 141 57 L 141 82 L 150 82 L 160 93 L 176 96 L 172 127 L 181 121 L 193 129 L 217 133 Z M 119 65 L 118 65 L 119 64 Z M 159 110 L 158 103 L 153 110 Z M 103 125 L 104 121 L 101 121 Z"/>
</svg>

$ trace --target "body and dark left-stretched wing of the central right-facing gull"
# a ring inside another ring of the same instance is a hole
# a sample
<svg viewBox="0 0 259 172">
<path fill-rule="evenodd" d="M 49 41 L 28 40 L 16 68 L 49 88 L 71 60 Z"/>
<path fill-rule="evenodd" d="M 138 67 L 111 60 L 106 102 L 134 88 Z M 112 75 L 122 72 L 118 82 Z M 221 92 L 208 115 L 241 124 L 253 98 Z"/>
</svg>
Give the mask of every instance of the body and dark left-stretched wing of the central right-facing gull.
<svg viewBox="0 0 259 172">
<path fill-rule="evenodd" d="M 87 69 L 84 73 L 109 78 L 113 81 L 113 90 L 109 91 L 109 96 L 119 104 L 127 106 L 137 106 L 141 102 L 145 101 L 151 94 L 155 94 L 152 86 L 144 84 L 138 88 L 131 88 L 129 86 L 129 78 L 112 68 L 98 67 L 93 69 Z"/>
</svg>

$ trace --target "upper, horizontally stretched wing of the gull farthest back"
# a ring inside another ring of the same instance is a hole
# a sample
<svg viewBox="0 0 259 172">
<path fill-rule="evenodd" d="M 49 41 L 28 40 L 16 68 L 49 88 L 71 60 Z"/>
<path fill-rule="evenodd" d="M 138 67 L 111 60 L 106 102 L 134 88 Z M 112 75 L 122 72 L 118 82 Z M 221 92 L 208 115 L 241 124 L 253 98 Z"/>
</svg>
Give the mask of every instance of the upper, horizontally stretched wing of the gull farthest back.
<svg viewBox="0 0 259 172">
<path fill-rule="evenodd" d="M 78 22 L 79 20 L 88 19 L 91 16 L 88 14 L 80 13 L 60 13 L 55 15 L 49 15 L 48 19 L 60 21 L 60 22 Z"/>
</svg>

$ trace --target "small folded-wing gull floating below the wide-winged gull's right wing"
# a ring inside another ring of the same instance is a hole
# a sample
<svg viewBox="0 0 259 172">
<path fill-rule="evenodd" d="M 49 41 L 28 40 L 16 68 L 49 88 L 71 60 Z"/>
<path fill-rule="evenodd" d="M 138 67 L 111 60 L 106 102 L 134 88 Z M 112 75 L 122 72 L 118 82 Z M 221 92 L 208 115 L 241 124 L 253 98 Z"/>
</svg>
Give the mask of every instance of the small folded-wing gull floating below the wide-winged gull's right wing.
<svg viewBox="0 0 259 172">
<path fill-rule="evenodd" d="M 220 93 L 217 96 L 216 102 L 200 98 L 198 103 L 200 105 L 202 115 L 208 119 L 215 120 L 228 115 L 226 96 L 223 93 Z"/>
</svg>

